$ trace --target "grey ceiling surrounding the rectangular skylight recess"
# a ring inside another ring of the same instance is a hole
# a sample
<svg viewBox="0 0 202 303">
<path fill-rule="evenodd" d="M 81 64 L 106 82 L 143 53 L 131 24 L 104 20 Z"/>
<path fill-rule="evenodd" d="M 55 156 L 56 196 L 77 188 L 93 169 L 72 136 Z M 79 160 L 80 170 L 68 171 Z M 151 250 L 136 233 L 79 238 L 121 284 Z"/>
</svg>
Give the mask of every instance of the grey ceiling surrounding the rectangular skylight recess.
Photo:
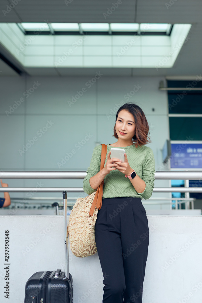
<svg viewBox="0 0 202 303">
<path fill-rule="evenodd" d="M 64 0 L 20 1 L 5 16 L 3 13 L 0 14 L 0 22 L 191 23 L 192 27 L 188 34 L 190 39 L 183 45 L 173 68 L 158 70 L 155 68 L 103 68 L 102 70 L 108 76 L 200 74 L 202 69 L 201 0 L 122 0 L 122 3 L 112 12 L 111 7 L 116 2 L 73 0 L 69 4 L 67 2 L 68 5 L 66 5 Z M 11 3 L 10 0 L 0 0 L 1 12 L 8 9 L 7 5 Z M 103 13 L 109 14 L 104 17 Z M 0 70 L 4 72 L 4 75 L 17 75 L 2 61 L 0 61 Z M 25 68 L 25 71 L 29 75 L 92 75 L 94 68 Z"/>
</svg>

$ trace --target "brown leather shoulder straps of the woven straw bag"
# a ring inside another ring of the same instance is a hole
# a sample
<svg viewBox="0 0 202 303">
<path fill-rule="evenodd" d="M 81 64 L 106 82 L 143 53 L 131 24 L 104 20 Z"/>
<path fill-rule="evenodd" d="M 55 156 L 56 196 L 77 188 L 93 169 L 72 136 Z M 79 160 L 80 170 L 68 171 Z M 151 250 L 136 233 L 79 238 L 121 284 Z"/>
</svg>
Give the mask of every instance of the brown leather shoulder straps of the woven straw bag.
<svg viewBox="0 0 202 303">
<path fill-rule="evenodd" d="M 105 159 L 106 159 L 106 155 L 107 155 L 107 145 L 102 144 L 102 143 L 101 143 L 101 145 L 102 145 L 102 148 L 101 148 L 100 170 L 102 168 L 104 168 L 104 163 L 105 163 Z M 103 187 L 104 187 L 104 180 L 101 182 L 101 184 L 97 188 L 97 191 L 96 191 L 96 194 L 94 196 L 93 203 L 92 203 L 92 206 L 91 206 L 91 210 L 89 212 L 90 216 L 92 216 L 94 214 L 95 205 L 99 209 L 102 206 Z"/>
</svg>

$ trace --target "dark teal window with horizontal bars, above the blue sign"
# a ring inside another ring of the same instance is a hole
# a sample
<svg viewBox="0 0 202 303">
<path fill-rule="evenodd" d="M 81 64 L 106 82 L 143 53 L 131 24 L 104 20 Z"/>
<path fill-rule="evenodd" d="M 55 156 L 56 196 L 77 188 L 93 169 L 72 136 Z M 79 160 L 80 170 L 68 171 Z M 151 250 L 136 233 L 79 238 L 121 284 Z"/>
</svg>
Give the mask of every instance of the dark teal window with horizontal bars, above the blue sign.
<svg viewBox="0 0 202 303">
<path fill-rule="evenodd" d="M 171 140 L 202 140 L 202 81 L 167 81 Z M 198 89 L 198 90 L 197 90 Z"/>
</svg>

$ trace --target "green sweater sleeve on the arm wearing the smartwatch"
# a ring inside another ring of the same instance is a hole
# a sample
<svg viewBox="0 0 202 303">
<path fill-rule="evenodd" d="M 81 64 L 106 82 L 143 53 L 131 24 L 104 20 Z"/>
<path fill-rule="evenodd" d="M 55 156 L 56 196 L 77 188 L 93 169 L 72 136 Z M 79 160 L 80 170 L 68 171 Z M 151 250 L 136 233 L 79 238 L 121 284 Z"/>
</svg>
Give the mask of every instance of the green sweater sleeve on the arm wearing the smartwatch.
<svg viewBox="0 0 202 303">
<path fill-rule="evenodd" d="M 143 192 L 139 193 L 144 199 L 149 199 L 154 189 L 154 174 L 155 174 L 155 160 L 154 153 L 151 148 L 145 157 L 144 167 L 142 170 L 142 180 L 146 187 Z"/>
</svg>

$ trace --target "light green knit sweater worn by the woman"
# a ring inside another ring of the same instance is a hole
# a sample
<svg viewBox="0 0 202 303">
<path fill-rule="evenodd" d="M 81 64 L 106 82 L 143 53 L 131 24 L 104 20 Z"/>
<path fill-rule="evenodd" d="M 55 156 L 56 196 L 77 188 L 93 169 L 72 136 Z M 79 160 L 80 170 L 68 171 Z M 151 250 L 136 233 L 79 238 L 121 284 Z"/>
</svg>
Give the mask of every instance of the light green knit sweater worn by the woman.
<svg viewBox="0 0 202 303">
<path fill-rule="evenodd" d="M 111 148 L 116 148 L 107 144 L 107 155 Z M 117 147 L 118 148 L 118 147 Z M 125 175 L 115 169 L 110 171 L 104 178 L 103 198 L 116 198 L 116 197 L 135 197 L 148 199 L 151 197 L 154 189 L 154 173 L 155 173 L 155 160 L 154 154 L 150 147 L 139 146 L 136 148 L 135 145 L 119 147 L 124 148 L 128 163 L 136 174 L 145 181 L 146 187 L 143 192 L 137 193 L 130 179 L 126 178 Z M 107 162 L 107 155 L 104 166 Z M 101 161 L 101 145 L 94 147 L 91 163 L 86 173 L 87 175 L 83 181 L 84 191 L 90 195 L 96 189 L 93 189 L 90 185 L 89 179 L 96 175 L 100 171 Z"/>
</svg>

